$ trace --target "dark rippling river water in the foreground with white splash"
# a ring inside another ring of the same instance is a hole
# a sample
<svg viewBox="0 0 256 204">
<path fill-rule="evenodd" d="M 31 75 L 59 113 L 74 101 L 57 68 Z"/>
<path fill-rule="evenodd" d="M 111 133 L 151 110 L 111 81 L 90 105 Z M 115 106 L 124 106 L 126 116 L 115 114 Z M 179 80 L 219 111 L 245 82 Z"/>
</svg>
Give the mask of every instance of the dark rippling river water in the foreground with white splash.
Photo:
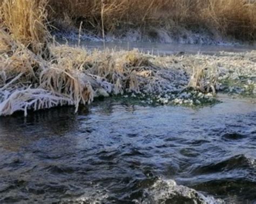
<svg viewBox="0 0 256 204">
<path fill-rule="evenodd" d="M 0 118 L 0 203 L 256 203 L 256 104 L 222 100 Z"/>
</svg>

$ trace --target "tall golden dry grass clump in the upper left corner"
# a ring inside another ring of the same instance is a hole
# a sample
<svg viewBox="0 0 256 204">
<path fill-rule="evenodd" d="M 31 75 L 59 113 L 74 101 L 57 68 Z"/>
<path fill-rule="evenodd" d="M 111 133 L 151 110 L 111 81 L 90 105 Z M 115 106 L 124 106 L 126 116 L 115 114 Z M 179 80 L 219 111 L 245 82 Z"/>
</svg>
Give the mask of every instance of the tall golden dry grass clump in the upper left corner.
<svg viewBox="0 0 256 204">
<path fill-rule="evenodd" d="M 2 29 L 33 52 L 44 52 L 49 37 L 46 29 L 47 3 L 47 0 L 2 0 Z"/>
</svg>

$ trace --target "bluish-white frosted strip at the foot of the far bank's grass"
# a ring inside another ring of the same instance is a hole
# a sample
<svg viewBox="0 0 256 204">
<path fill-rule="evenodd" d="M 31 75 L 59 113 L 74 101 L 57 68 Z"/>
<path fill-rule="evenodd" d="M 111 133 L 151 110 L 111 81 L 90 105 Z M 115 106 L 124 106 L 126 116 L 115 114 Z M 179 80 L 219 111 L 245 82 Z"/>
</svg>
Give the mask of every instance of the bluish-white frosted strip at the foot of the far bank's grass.
<svg viewBox="0 0 256 204">
<path fill-rule="evenodd" d="M 151 33 L 154 33 L 151 36 Z M 77 31 L 55 31 L 52 33 L 58 39 L 77 41 L 79 38 L 79 33 Z M 95 41 L 103 42 L 102 36 L 91 33 L 82 33 L 80 35 L 80 40 L 84 41 Z M 211 33 L 206 31 L 193 32 L 188 30 L 177 30 L 177 31 L 167 31 L 165 29 L 156 29 L 143 33 L 142 31 L 129 29 L 124 31 L 122 34 L 105 34 L 106 42 L 113 41 L 129 41 L 129 42 L 157 42 L 157 43 L 180 43 L 180 44 L 200 44 L 200 45 L 239 45 L 235 40 L 225 40 L 220 37 L 218 39 L 214 37 Z"/>
</svg>

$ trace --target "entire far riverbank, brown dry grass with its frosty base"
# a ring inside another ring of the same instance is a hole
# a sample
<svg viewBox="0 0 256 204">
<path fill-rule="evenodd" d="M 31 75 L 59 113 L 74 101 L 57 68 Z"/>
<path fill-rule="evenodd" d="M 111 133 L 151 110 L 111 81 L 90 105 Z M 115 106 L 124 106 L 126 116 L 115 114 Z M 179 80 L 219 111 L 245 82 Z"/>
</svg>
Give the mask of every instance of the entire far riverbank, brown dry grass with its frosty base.
<svg viewBox="0 0 256 204">
<path fill-rule="evenodd" d="M 79 34 L 86 40 L 215 45 L 256 39 L 255 1 L 52 0 L 48 10 L 53 33 L 69 40 Z"/>
</svg>

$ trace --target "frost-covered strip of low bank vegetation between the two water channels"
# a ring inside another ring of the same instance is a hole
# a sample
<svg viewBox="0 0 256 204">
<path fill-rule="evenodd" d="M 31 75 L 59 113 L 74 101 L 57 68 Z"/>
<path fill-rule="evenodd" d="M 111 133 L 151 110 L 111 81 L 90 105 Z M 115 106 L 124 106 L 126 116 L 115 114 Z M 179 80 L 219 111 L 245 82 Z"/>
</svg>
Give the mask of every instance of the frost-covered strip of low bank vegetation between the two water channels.
<svg viewBox="0 0 256 204">
<path fill-rule="evenodd" d="M 217 92 L 255 97 L 256 53 L 170 55 L 51 45 L 50 60 L 27 48 L 1 55 L 1 115 L 123 95 L 145 104 L 213 104 Z"/>
</svg>

